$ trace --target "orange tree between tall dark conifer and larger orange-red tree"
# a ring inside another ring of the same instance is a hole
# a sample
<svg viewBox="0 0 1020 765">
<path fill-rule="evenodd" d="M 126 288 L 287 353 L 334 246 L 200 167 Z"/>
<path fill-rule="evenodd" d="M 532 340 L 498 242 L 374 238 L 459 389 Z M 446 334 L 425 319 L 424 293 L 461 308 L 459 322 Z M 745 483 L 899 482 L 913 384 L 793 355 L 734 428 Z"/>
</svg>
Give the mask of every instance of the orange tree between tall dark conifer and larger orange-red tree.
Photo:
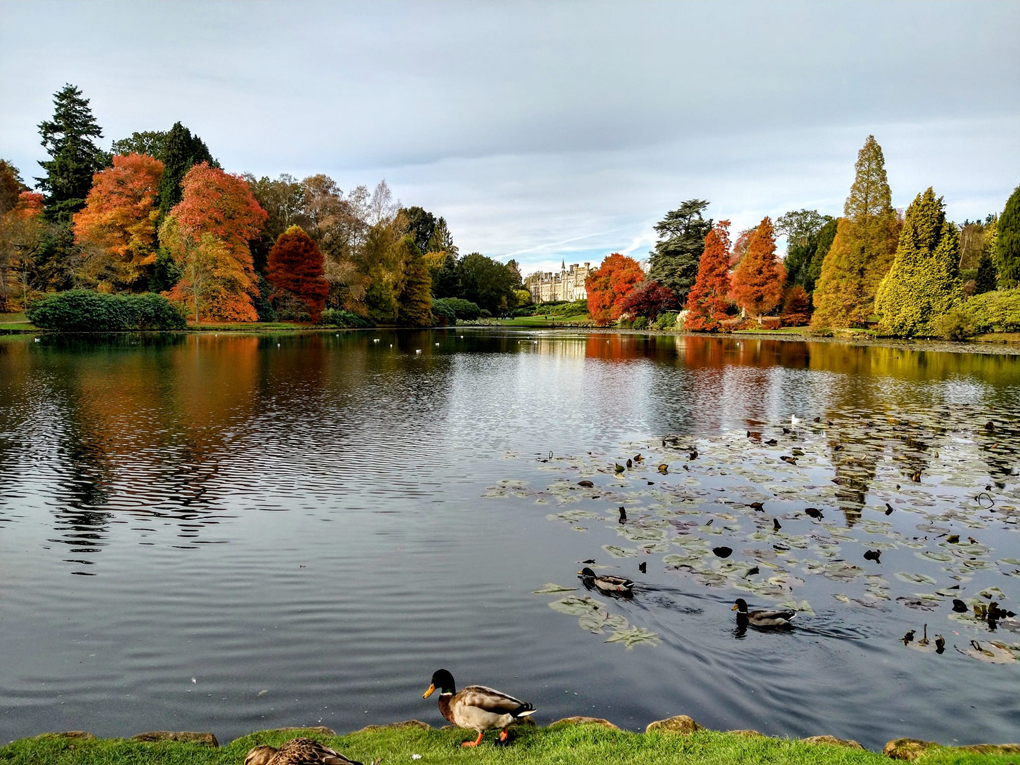
<svg viewBox="0 0 1020 765">
<path fill-rule="evenodd" d="M 98 245 L 115 258 L 119 287 L 148 283 L 156 262 L 156 197 L 163 163 L 145 154 L 113 157 L 92 176 L 85 209 L 74 214 L 74 241 Z"/>
</svg>

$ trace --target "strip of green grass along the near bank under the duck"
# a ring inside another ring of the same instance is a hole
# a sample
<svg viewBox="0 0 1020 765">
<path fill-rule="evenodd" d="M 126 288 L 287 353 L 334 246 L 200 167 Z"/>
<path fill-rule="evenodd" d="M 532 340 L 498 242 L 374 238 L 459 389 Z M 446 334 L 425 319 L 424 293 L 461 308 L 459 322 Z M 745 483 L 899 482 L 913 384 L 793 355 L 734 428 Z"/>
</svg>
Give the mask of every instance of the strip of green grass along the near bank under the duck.
<svg viewBox="0 0 1020 765">
<path fill-rule="evenodd" d="M 59 736 L 23 738 L 0 748 L 4 765 L 241 765 L 251 747 L 279 746 L 297 731 L 252 733 L 220 749 L 194 744 L 139 744 L 125 740 L 78 741 Z M 509 747 L 493 744 L 494 733 L 476 749 L 462 749 L 460 743 L 473 737 L 469 731 L 417 728 L 379 728 L 342 736 L 310 733 L 329 747 L 368 763 L 381 758 L 390 763 L 520 763 L 523 765 L 654 765 L 655 763 L 698 763 L 698 765 L 888 765 L 882 755 L 800 741 L 743 736 L 732 733 L 699 731 L 693 735 L 674 733 L 631 733 L 596 725 L 556 728 L 524 727 L 515 733 Z M 412 755 L 420 759 L 412 760 Z M 958 749 L 935 749 L 924 754 L 923 765 L 1006 765 L 1017 755 L 979 755 Z"/>
</svg>

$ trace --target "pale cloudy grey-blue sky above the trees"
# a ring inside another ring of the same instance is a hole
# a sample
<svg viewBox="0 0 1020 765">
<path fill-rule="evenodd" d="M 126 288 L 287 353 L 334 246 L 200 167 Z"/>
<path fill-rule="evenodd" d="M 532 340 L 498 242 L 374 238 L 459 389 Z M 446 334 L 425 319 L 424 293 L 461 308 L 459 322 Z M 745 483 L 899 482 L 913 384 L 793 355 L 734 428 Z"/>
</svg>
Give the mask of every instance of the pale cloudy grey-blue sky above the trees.
<svg viewBox="0 0 1020 765">
<path fill-rule="evenodd" d="M 103 148 L 180 120 L 227 171 L 385 178 L 461 253 L 558 270 L 646 258 L 692 198 L 838 215 L 869 134 L 895 206 L 1001 211 L 1018 40 L 1020 0 L 0 0 L 0 157 L 33 183 L 72 83 Z"/>
</svg>

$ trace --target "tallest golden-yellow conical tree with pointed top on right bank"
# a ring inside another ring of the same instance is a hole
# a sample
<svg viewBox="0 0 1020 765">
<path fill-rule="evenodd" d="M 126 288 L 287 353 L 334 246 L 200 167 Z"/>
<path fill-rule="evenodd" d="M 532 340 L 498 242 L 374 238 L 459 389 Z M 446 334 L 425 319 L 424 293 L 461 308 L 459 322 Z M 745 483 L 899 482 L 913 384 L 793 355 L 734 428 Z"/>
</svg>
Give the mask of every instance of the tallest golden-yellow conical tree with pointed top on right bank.
<svg viewBox="0 0 1020 765">
<path fill-rule="evenodd" d="M 816 326 L 863 325 L 892 265 L 900 222 L 892 209 L 885 159 L 874 136 L 857 155 L 857 176 L 815 286 Z"/>
</svg>

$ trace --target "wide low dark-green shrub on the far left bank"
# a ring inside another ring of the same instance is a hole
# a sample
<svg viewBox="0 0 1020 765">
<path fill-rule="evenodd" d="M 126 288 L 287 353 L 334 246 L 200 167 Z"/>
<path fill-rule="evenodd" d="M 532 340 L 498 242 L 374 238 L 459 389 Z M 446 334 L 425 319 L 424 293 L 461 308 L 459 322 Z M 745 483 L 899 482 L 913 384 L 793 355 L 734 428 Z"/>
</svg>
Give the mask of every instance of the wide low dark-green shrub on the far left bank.
<svg viewBox="0 0 1020 765">
<path fill-rule="evenodd" d="M 161 295 L 103 295 L 70 290 L 36 301 L 26 311 L 44 329 L 68 333 L 169 332 L 187 326 L 184 312 Z"/>
</svg>

